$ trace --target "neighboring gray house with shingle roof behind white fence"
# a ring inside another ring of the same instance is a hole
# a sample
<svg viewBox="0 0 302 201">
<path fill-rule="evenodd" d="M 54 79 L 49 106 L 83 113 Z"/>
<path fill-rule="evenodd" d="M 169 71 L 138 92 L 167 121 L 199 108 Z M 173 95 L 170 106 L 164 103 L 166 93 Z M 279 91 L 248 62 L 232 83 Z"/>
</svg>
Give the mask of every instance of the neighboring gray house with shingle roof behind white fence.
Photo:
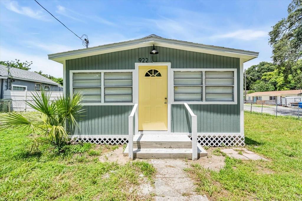
<svg viewBox="0 0 302 201">
<path fill-rule="evenodd" d="M 31 71 L 21 70 L 5 65 L 0 65 L 0 99 L 3 98 L 3 91 L 63 91 L 60 84 Z"/>
</svg>

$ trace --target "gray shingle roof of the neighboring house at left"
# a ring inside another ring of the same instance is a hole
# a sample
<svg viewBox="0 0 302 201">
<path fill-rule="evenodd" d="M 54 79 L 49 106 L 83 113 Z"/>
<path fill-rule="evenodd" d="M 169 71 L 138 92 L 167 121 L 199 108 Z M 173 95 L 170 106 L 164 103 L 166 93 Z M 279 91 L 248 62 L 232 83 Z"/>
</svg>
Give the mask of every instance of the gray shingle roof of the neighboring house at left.
<svg viewBox="0 0 302 201">
<path fill-rule="evenodd" d="M 17 69 L 17 68 L 9 68 L 9 72 L 13 78 L 20 78 L 20 79 L 26 79 L 26 80 L 32 80 L 32 81 L 37 81 L 37 82 L 43 82 L 43 83 L 49 83 L 53 85 L 58 85 L 58 83 L 38 74 L 32 71 L 26 71 L 22 69 Z M 0 75 L 1 76 L 8 76 L 8 68 L 5 65 L 0 65 Z"/>
</svg>

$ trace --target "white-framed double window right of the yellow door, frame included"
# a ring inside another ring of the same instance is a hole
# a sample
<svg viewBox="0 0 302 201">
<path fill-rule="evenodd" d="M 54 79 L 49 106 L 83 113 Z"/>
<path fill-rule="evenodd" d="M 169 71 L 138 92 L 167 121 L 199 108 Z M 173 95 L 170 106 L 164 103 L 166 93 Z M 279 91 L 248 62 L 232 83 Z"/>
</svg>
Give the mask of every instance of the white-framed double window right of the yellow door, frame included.
<svg viewBox="0 0 302 201">
<path fill-rule="evenodd" d="M 237 69 L 172 69 L 173 103 L 236 104 Z"/>
</svg>

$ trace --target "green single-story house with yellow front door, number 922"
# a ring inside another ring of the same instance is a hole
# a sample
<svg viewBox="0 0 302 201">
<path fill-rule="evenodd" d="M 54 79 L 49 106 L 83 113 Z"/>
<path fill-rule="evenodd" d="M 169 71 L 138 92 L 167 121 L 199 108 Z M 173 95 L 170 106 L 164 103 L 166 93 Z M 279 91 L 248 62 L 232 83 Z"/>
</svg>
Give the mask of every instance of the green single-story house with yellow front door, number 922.
<svg viewBox="0 0 302 201">
<path fill-rule="evenodd" d="M 152 34 L 48 58 L 63 64 L 63 93 L 83 94 L 85 116 L 71 137 L 124 144 L 133 129 L 138 154 L 144 143 L 180 146 L 179 136 L 192 138 L 195 129 L 202 146 L 244 145 L 243 63 L 258 54 Z"/>
</svg>

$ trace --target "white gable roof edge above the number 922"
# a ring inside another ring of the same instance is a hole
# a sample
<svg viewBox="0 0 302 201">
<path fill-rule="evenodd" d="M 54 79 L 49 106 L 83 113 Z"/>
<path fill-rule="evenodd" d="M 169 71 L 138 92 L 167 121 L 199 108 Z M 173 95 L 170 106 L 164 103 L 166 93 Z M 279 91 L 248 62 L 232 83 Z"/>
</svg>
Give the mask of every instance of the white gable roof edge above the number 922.
<svg viewBox="0 0 302 201">
<path fill-rule="evenodd" d="M 258 57 L 259 54 L 257 52 L 246 51 L 246 50 L 150 37 L 147 39 L 146 38 L 138 39 L 138 40 L 121 42 L 121 43 L 113 43 L 103 46 L 91 47 L 86 49 L 79 49 L 69 52 L 49 54 L 48 59 L 57 61 L 59 63 L 63 63 L 63 61 L 68 59 L 76 59 L 85 56 L 93 56 L 98 54 L 117 52 L 117 51 L 152 46 L 152 45 L 174 48 L 174 49 L 182 49 L 182 50 L 193 51 L 193 52 L 208 53 L 214 55 L 243 58 L 244 62 Z"/>
</svg>

